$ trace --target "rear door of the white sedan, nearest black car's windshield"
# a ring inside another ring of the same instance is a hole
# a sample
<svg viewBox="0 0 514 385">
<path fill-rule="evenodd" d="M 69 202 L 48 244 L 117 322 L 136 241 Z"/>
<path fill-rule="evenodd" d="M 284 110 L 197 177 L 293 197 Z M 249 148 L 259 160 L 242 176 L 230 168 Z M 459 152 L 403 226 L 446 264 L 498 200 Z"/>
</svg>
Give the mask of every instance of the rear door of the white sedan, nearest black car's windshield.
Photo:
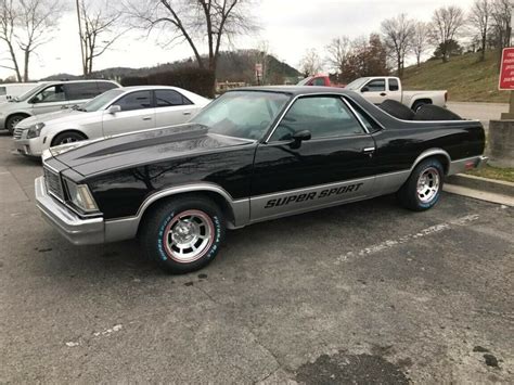
<svg viewBox="0 0 514 385">
<path fill-rule="evenodd" d="M 188 98 L 175 90 L 155 90 L 156 127 L 180 125 L 200 111 Z"/>
</svg>

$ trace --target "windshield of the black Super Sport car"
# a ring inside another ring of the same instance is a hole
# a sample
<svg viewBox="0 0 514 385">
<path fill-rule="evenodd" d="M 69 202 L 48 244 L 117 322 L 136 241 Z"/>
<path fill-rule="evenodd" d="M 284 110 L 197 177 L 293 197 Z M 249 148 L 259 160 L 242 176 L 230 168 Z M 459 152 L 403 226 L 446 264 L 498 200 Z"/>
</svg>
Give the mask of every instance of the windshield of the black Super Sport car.
<svg viewBox="0 0 514 385">
<path fill-rule="evenodd" d="M 227 92 L 196 115 L 191 123 L 207 126 L 209 132 L 243 139 L 260 139 L 290 100 L 280 92 Z"/>
</svg>

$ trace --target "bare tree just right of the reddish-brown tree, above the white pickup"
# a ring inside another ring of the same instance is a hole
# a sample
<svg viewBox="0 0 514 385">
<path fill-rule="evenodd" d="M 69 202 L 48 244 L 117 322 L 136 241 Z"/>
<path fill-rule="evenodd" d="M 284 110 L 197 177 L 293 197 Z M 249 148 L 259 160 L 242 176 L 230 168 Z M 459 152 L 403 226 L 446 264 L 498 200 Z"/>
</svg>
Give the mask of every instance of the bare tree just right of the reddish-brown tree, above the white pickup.
<svg viewBox="0 0 514 385">
<path fill-rule="evenodd" d="M 403 75 L 406 55 L 409 52 L 414 35 L 414 22 L 404 13 L 382 22 L 382 35 L 385 47 L 396 61 L 398 77 Z"/>
</svg>

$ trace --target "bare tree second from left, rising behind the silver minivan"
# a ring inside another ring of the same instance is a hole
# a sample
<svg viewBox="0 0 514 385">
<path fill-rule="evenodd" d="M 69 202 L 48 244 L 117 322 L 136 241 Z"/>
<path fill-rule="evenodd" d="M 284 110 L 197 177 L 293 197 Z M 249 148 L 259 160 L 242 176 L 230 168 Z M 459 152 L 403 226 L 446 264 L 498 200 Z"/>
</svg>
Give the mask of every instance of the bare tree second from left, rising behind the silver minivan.
<svg viewBox="0 0 514 385">
<path fill-rule="evenodd" d="M 107 3 L 105 3 L 107 5 Z M 95 7 L 80 1 L 80 43 L 83 52 L 82 73 L 85 76 L 91 75 L 93 61 L 105 53 L 127 31 L 119 30 L 121 14 L 107 7 Z"/>
</svg>

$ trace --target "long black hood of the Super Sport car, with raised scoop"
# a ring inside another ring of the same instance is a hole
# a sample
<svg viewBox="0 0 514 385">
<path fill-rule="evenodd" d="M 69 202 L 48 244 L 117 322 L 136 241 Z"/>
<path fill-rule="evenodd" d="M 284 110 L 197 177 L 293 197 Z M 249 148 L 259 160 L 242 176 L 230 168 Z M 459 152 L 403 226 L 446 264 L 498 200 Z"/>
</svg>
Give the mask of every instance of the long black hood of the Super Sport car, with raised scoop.
<svg viewBox="0 0 514 385">
<path fill-rule="evenodd" d="M 252 143 L 255 142 L 209 133 L 205 126 L 185 124 L 74 143 L 67 152 L 51 147 L 50 153 L 66 167 L 88 177 Z"/>
</svg>

